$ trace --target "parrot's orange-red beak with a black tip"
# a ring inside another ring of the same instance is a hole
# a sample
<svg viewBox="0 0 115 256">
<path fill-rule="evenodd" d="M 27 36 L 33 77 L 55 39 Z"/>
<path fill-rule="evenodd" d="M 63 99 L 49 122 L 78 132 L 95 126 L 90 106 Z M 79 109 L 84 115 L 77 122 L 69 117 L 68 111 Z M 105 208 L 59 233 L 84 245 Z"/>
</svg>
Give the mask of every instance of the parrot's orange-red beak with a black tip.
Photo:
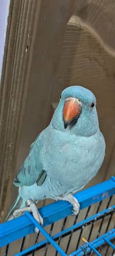
<svg viewBox="0 0 115 256">
<path fill-rule="evenodd" d="M 75 124 L 81 114 L 82 104 L 77 98 L 67 98 L 63 107 L 63 121 L 66 129 L 69 124 Z"/>
</svg>

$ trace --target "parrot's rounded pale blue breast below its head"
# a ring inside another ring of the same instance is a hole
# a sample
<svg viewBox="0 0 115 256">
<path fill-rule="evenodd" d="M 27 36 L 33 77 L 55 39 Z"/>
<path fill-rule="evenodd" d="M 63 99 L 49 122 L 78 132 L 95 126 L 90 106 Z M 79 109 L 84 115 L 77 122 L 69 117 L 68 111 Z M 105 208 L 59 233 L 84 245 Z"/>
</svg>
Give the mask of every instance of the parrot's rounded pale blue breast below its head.
<svg viewBox="0 0 115 256">
<path fill-rule="evenodd" d="M 44 169 L 51 180 L 61 184 L 63 193 L 81 189 L 96 175 L 104 160 L 105 142 L 100 130 L 90 137 L 55 135 L 54 143 L 50 137 L 50 145 L 44 152 Z"/>
</svg>

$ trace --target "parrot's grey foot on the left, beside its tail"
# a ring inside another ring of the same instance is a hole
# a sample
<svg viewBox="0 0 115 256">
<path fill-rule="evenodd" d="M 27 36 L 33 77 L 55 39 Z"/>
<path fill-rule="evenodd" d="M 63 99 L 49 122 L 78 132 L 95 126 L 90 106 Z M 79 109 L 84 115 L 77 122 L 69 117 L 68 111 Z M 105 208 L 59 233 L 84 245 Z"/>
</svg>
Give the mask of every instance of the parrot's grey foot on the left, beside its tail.
<svg viewBox="0 0 115 256">
<path fill-rule="evenodd" d="M 34 219 L 36 219 L 40 223 L 40 225 L 43 225 L 43 218 L 39 214 L 34 201 L 32 199 L 28 199 L 25 202 L 25 205 L 26 205 L 26 207 L 17 209 L 13 212 L 13 219 L 18 217 L 18 215 L 20 215 L 20 213 L 23 213 L 25 211 L 29 211 L 29 212 L 32 212 Z M 38 228 L 35 228 L 35 232 L 37 232 L 37 233 L 39 232 Z"/>
</svg>

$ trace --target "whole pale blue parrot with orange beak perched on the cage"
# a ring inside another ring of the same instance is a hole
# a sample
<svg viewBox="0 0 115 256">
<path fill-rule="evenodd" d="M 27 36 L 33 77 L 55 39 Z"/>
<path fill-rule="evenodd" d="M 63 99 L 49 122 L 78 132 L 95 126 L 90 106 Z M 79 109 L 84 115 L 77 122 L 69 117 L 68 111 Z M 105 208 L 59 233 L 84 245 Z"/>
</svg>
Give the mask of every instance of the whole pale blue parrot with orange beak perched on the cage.
<svg viewBox="0 0 115 256">
<path fill-rule="evenodd" d="M 79 85 L 67 87 L 50 124 L 36 137 L 13 181 L 19 194 L 6 220 L 26 210 L 43 224 L 36 202 L 45 198 L 69 201 L 78 214 L 80 205 L 72 194 L 96 175 L 104 154 L 95 96 Z"/>
</svg>

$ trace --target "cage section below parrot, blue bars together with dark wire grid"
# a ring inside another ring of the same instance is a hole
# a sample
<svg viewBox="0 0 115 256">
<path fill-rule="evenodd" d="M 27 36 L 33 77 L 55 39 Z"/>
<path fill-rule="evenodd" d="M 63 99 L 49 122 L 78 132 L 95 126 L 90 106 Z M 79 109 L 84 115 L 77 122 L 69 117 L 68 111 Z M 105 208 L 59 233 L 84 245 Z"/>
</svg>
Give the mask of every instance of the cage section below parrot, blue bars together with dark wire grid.
<svg viewBox="0 0 115 256">
<path fill-rule="evenodd" d="M 80 213 L 75 217 L 69 217 L 72 214 L 72 206 L 68 202 L 58 201 L 39 208 L 44 219 L 43 227 L 29 212 L 0 224 L 0 247 L 5 246 L 4 256 L 114 256 L 115 177 L 112 176 L 110 180 L 87 188 L 74 194 L 74 196 L 80 202 Z M 102 207 L 103 204 L 104 207 Z M 95 213 L 93 210 L 93 214 L 92 205 L 95 205 Z M 82 210 L 85 210 L 84 218 L 80 219 Z M 69 221 L 70 226 L 68 226 L 69 218 L 72 218 Z M 54 233 L 54 227 L 58 225 L 57 221 L 59 220 L 62 222 L 61 230 Z M 39 233 L 34 235 L 34 244 L 25 248 L 26 237 L 29 234 L 32 236 L 35 227 L 39 229 Z M 48 232 L 46 227 L 49 227 Z M 83 232 L 87 228 L 88 232 L 85 232 L 85 238 L 82 239 Z M 40 240 L 41 234 L 43 236 Z M 65 238 L 67 242 L 63 240 Z M 20 249 L 18 253 L 11 255 L 11 253 L 9 254 L 10 247 L 17 240 Z M 71 244 L 74 247 L 72 251 L 70 251 Z M 51 246 L 53 253 L 48 252 L 49 248 L 51 250 Z M 41 250 L 42 252 L 40 252 Z"/>
</svg>

